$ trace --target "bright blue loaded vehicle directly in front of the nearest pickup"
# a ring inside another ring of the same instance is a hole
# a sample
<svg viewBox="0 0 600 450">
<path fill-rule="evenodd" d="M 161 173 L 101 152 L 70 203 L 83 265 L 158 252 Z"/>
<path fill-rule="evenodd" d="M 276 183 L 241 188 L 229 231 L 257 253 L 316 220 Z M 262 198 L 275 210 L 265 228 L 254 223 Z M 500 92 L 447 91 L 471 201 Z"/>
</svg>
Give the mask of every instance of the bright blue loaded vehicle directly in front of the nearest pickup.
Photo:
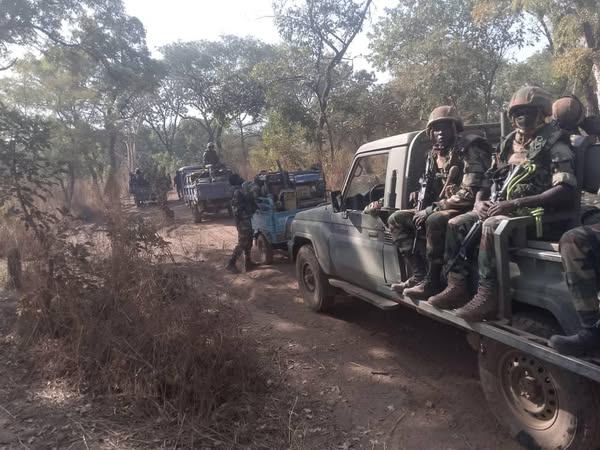
<svg viewBox="0 0 600 450">
<path fill-rule="evenodd" d="M 252 217 L 259 262 L 271 264 L 276 250 L 287 250 L 289 229 L 297 212 L 325 201 L 325 180 L 320 170 L 260 173 L 258 210 Z"/>
</svg>

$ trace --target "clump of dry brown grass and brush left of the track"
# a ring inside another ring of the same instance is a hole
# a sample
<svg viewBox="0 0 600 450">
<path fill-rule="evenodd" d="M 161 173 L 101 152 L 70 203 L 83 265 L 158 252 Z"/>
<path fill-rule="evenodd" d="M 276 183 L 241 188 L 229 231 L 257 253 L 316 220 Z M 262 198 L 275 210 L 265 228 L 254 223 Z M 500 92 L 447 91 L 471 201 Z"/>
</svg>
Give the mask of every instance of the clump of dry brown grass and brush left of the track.
<svg viewBox="0 0 600 450">
<path fill-rule="evenodd" d="M 150 225 L 111 219 L 108 245 L 58 238 L 49 264 L 27 267 L 19 329 L 39 367 L 160 417 L 184 447 L 280 448 L 286 435 L 272 408 L 285 405 L 269 394 L 272 375 L 244 336 L 238 309 L 174 264 Z"/>
</svg>

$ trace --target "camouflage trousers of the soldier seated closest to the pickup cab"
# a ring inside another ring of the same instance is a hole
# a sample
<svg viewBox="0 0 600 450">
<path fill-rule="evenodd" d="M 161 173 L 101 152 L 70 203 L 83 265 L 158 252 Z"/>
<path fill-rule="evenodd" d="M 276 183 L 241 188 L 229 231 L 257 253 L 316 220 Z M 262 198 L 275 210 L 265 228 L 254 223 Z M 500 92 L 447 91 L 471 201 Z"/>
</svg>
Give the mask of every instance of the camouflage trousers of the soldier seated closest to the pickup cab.
<svg viewBox="0 0 600 450">
<path fill-rule="evenodd" d="M 415 252 L 425 253 L 430 263 L 442 264 L 448 220 L 458 214 L 460 212 L 454 209 L 430 214 L 425 220 L 424 230 L 419 232 Z M 412 252 L 416 232 L 413 223 L 414 217 L 414 209 L 404 209 L 396 211 L 388 219 L 392 241 L 398 247 L 401 255 L 408 255 Z"/>
</svg>

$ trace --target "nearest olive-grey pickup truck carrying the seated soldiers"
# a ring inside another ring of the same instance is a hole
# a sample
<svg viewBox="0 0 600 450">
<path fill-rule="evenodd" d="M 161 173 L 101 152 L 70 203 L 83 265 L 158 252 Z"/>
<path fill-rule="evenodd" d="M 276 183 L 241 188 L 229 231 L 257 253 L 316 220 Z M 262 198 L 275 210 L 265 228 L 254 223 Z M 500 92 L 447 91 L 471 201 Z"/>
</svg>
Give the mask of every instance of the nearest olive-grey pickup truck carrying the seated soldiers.
<svg viewBox="0 0 600 450">
<path fill-rule="evenodd" d="M 500 124 L 466 127 L 496 144 Z M 581 191 L 596 194 L 600 145 L 574 136 Z M 528 240 L 533 219 L 505 220 L 495 232 L 500 280 L 496 320 L 467 323 L 392 291 L 410 276 L 386 227 L 387 217 L 409 208 L 431 148 L 424 131 L 370 142 L 356 152 L 343 189 L 326 204 L 296 214 L 288 251 L 305 303 L 326 311 L 338 293 L 382 310 L 409 307 L 460 327 L 479 354 L 481 386 L 491 410 L 528 449 L 591 450 L 600 447 L 600 358 L 573 358 L 548 346 L 557 332 L 574 333 L 580 323 L 564 282 L 556 242 Z M 363 214 L 384 199 L 379 216 Z M 569 212 L 580 220 L 579 202 Z M 551 220 L 551 217 L 548 218 Z M 476 268 L 474 268 L 476 270 Z"/>
</svg>

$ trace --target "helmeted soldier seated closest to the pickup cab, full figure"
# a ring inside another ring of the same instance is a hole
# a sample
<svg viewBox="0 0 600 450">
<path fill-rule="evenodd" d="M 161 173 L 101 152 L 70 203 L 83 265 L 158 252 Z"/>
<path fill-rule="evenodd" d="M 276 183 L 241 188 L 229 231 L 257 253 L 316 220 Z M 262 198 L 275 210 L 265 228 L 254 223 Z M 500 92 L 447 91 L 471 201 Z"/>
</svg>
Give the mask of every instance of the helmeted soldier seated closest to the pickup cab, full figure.
<svg viewBox="0 0 600 450">
<path fill-rule="evenodd" d="M 417 208 L 396 211 L 388 219 L 394 245 L 408 259 L 413 272 L 407 281 L 393 284 L 392 289 L 415 299 L 426 299 L 442 290 L 440 275 L 448 220 L 473 207 L 475 195 L 486 181 L 491 147 L 480 136 L 461 135 L 463 130 L 463 121 L 454 107 L 439 106 L 432 111 L 426 133 L 433 147 L 427 155 Z M 375 213 L 382 204 L 373 202 L 365 212 Z"/>
</svg>

